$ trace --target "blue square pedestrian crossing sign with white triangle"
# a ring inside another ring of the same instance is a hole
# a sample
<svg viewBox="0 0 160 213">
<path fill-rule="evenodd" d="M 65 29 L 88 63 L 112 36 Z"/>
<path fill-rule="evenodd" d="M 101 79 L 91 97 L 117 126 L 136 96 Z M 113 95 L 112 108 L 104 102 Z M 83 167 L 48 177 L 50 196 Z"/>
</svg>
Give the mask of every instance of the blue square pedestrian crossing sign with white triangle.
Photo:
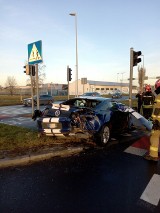
<svg viewBox="0 0 160 213">
<path fill-rule="evenodd" d="M 28 44 L 28 64 L 38 64 L 42 59 L 42 41 Z"/>
</svg>

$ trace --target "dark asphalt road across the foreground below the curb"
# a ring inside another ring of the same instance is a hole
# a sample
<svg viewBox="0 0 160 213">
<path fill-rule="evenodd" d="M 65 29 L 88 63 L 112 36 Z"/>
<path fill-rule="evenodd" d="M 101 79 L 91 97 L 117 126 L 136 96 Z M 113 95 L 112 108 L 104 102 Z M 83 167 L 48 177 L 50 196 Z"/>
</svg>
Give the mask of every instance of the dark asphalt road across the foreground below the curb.
<svg viewBox="0 0 160 213">
<path fill-rule="evenodd" d="M 160 164 L 135 154 L 146 137 L 2 169 L 0 212 L 159 213 Z"/>
</svg>

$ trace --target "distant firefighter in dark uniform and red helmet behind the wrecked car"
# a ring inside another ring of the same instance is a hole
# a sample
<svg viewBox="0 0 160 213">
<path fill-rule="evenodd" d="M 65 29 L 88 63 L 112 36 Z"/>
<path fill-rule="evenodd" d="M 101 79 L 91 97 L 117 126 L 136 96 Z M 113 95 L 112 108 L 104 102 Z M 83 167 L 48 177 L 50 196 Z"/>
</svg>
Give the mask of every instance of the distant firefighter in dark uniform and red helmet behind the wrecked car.
<svg viewBox="0 0 160 213">
<path fill-rule="evenodd" d="M 153 111 L 154 99 L 155 99 L 155 96 L 152 93 L 151 86 L 149 84 L 147 84 L 145 86 L 145 92 L 142 95 L 143 116 L 146 119 L 151 118 L 152 111 Z"/>
</svg>

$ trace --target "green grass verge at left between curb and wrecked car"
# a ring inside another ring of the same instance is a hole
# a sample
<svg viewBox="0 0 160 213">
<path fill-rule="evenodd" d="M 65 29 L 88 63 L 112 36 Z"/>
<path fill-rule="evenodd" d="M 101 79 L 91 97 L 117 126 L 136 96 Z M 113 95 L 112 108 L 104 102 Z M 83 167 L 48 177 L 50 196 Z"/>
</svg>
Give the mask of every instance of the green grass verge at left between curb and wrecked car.
<svg viewBox="0 0 160 213">
<path fill-rule="evenodd" d="M 68 145 L 67 139 L 54 137 L 38 137 L 37 131 L 27 128 L 0 124 L 0 157 L 8 155 L 24 155 L 43 148 L 53 147 L 55 144 Z"/>
</svg>

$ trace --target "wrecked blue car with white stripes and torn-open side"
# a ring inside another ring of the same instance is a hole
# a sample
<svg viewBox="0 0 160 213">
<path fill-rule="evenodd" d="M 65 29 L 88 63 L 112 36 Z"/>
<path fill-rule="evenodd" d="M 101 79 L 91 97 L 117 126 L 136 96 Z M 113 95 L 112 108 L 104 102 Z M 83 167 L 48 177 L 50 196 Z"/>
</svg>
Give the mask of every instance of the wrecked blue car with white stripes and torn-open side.
<svg viewBox="0 0 160 213">
<path fill-rule="evenodd" d="M 33 119 L 38 117 L 37 126 L 41 135 L 92 138 L 97 144 L 105 146 L 111 137 L 132 128 L 136 113 L 111 98 L 77 97 L 53 103 L 42 112 L 35 110 Z M 137 119 L 142 120 L 141 123 L 148 129 L 151 128 L 140 114 Z"/>
</svg>

